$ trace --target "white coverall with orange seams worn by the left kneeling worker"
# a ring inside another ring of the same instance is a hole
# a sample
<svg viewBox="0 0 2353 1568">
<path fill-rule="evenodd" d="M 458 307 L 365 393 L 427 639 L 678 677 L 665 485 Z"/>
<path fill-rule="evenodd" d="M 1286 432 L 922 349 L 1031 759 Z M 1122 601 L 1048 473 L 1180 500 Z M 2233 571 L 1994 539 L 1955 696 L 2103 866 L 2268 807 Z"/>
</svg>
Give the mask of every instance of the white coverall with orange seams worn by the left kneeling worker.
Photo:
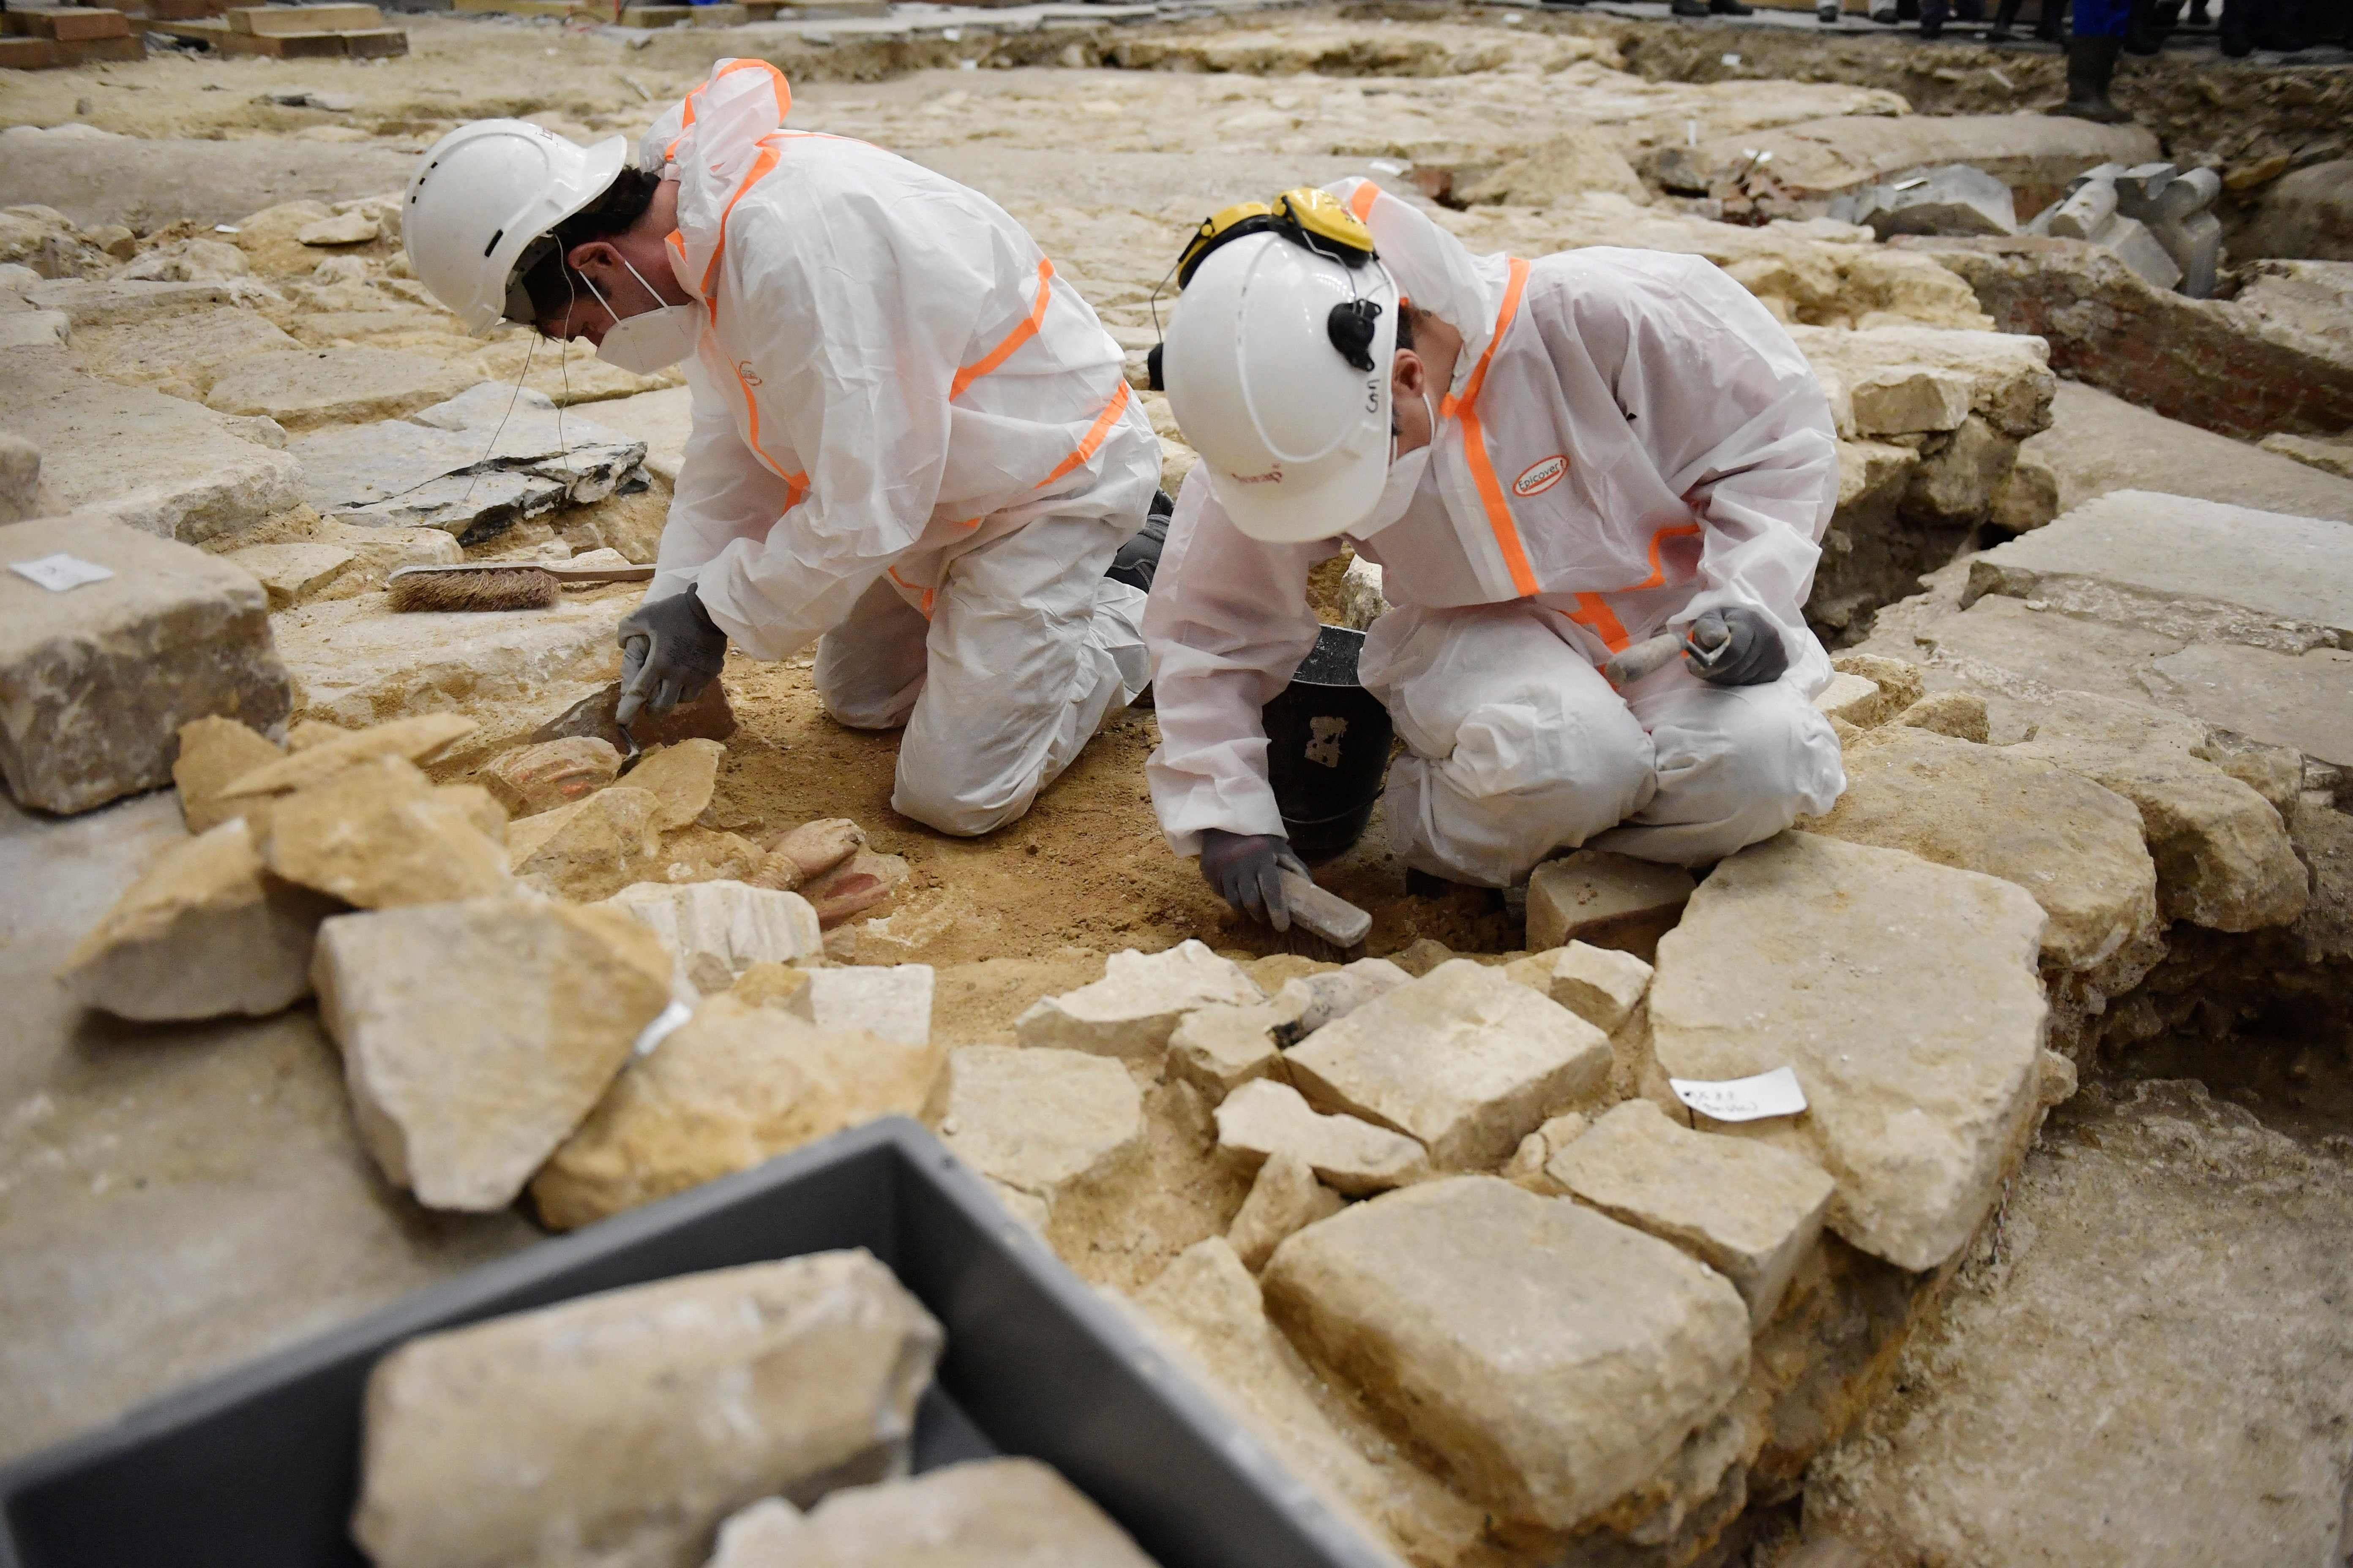
<svg viewBox="0 0 2353 1568">
<path fill-rule="evenodd" d="M 1012 216 L 788 108 L 774 66 L 725 59 L 640 148 L 701 303 L 649 592 L 692 583 L 755 658 L 824 635 L 826 710 L 906 726 L 892 806 L 988 832 L 1144 686 L 1144 595 L 1104 569 L 1160 442 Z"/>
</svg>

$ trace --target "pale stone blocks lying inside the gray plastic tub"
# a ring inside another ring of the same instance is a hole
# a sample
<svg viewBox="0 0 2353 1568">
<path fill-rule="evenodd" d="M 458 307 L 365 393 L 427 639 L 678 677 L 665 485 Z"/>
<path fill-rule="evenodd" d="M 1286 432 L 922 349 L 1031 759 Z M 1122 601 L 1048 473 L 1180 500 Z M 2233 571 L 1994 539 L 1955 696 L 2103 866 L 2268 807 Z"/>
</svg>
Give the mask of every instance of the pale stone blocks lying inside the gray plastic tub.
<svg viewBox="0 0 2353 1568">
<path fill-rule="evenodd" d="M 908 1476 L 944 1342 L 866 1251 L 419 1335 L 369 1373 L 351 1533 L 379 1568 L 1151 1568 L 1038 1460 Z"/>
</svg>

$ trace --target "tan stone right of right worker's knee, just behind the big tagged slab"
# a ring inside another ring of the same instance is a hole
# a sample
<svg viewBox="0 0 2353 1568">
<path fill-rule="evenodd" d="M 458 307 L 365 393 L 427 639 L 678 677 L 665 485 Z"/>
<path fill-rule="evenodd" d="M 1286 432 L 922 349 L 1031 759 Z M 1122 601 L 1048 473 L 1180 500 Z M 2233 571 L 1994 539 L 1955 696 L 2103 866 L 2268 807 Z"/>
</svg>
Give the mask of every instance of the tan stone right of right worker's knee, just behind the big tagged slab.
<svg viewBox="0 0 2353 1568">
<path fill-rule="evenodd" d="M 1847 792 L 1807 832 L 2026 889 L 2049 914 L 2042 961 L 2057 969 L 2094 969 L 2158 931 L 2158 867 L 2132 804 L 2014 745 L 1873 731 L 1847 752 Z"/>
</svg>

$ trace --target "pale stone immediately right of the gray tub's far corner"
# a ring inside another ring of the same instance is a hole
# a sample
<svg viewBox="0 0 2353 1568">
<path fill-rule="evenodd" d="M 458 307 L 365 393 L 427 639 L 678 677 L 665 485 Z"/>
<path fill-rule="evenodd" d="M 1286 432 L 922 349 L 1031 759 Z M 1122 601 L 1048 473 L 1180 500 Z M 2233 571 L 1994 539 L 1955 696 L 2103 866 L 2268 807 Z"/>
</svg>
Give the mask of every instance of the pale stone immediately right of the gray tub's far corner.
<svg viewBox="0 0 2353 1568">
<path fill-rule="evenodd" d="M 939 1135 L 988 1180 L 1052 1204 L 1141 1145 L 1144 1095 L 1104 1056 L 965 1046 L 948 1056 Z"/>
</svg>

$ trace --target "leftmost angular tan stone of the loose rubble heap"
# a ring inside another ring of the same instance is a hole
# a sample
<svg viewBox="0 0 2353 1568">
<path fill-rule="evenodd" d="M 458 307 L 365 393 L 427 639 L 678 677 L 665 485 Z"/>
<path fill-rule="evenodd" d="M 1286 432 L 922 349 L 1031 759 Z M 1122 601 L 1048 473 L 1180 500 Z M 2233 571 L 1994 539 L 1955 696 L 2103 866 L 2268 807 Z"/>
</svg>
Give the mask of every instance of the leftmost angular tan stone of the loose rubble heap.
<svg viewBox="0 0 2353 1568">
<path fill-rule="evenodd" d="M 341 905 L 271 877 L 242 820 L 174 844 L 59 971 L 82 1006 L 141 1023 L 245 1013 L 311 994 L 311 940 Z"/>
</svg>

